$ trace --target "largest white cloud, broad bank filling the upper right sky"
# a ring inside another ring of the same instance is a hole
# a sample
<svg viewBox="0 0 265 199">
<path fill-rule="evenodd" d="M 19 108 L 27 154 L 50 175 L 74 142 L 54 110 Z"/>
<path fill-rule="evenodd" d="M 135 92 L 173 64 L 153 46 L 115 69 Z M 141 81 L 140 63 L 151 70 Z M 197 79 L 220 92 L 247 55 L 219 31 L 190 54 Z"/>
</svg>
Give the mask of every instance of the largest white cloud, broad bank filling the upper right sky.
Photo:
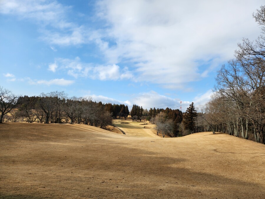
<svg viewBox="0 0 265 199">
<path fill-rule="evenodd" d="M 138 81 L 183 88 L 233 58 L 242 37 L 258 36 L 252 13 L 262 3 L 103 0 L 98 17 L 110 28 L 96 43 L 110 62 L 136 63 Z M 115 46 L 107 45 L 106 35 Z"/>
</svg>

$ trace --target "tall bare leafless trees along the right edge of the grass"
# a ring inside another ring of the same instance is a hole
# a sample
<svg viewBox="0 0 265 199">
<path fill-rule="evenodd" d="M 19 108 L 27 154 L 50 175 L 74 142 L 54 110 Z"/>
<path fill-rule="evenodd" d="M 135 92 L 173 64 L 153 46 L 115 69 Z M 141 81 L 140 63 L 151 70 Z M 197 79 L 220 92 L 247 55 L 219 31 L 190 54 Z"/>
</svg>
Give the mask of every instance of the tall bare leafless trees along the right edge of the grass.
<svg viewBox="0 0 265 199">
<path fill-rule="evenodd" d="M 238 44 L 216 76 L 214 95 L 201 107 L 199 126 L 265 144 L 265 6 L 253 14 L 261 35 Z"/>
</svg>

